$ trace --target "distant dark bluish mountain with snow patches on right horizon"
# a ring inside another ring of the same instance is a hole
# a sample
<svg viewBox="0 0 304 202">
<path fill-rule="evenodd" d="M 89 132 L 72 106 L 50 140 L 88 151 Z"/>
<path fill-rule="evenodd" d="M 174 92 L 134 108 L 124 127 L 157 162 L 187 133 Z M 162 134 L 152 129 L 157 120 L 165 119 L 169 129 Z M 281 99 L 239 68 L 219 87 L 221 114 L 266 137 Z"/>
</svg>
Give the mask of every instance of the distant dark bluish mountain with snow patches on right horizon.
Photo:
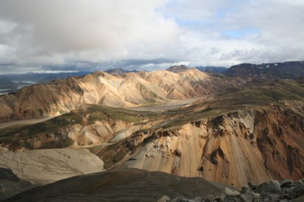
<svg viewBox="0 0 304 202">
<path fill-rule="evenodd" d="M 234 76 L 259 79 L 296 79 L 297 77 L 304 76 L 304 61 L 263 63 L 260 65 L 243 63 L 231 66 L 226 73 Z"/>
</svg>

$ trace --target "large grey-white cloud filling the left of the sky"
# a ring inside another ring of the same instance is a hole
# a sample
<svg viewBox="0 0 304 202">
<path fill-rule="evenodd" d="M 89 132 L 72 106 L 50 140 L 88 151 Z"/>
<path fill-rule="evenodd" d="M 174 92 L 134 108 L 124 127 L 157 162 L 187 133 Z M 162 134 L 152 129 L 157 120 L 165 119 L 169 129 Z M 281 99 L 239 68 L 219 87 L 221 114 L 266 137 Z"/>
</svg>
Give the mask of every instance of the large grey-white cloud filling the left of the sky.
<svg viewBox="0 0 304 202">
<path fill-rule="evenodd" d="M 0 25 L 16 26 L 1 32 L 1 43 L 12 48 L 16 63 L 155 59 L 178 43 L 175 21 L 155 12 L 163 3 L 5 0 Z"/>
</svg>

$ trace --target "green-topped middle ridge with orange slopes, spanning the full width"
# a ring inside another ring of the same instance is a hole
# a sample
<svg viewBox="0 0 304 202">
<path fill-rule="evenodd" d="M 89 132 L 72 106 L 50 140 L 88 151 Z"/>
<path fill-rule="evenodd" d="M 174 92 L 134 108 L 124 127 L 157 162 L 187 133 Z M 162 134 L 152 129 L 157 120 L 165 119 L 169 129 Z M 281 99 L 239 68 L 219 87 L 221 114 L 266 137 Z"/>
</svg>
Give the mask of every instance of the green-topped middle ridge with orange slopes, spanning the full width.
<svg viewBox="0 0 304 202">
<path fill-rule="evenodd" d="M 303 178 L 303 109 L 301 79 L 250 81 L 171 110 L 82 105 L 48 121 L 2 128 L 0 144 L 86 147 L 106 170 L 158 170 L 240 188 Z"/>
</svg>

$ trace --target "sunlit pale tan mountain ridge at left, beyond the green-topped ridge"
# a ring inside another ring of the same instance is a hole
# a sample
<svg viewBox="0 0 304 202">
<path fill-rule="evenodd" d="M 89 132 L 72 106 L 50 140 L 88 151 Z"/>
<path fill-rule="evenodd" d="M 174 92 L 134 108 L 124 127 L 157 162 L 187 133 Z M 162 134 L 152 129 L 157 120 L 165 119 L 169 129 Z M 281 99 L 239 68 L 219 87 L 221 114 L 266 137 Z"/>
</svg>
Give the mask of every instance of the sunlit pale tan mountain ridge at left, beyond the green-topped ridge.
<svg viewBox="0 0 304 202">
<path fill-rule="evenodd" d="M 56 79 L 0 96 L 0 122 L 55 116 L 85 103 L 132 107 L 174 99 L 189 99 L 245 83 L 245 79 L 211 75 L 196 69 L 113 75 L 94 72 Z"/>
</svg>

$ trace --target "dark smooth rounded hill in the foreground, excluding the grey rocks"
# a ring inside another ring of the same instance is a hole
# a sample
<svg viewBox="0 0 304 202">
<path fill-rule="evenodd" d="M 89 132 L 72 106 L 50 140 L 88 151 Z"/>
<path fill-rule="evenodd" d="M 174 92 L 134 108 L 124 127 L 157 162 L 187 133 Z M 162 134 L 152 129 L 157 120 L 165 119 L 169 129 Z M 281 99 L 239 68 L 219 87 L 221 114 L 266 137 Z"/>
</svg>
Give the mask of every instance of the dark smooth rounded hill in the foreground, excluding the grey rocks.
<svg viewBox="0 0 304 202">
<path fill-rule="evenodd" d="M 75 176 L 28 190 L 6 201 L 157 201 L 164 194 L 220 195 L 224 185 L 163 172 L 128 169 Z"/>
</svg>

